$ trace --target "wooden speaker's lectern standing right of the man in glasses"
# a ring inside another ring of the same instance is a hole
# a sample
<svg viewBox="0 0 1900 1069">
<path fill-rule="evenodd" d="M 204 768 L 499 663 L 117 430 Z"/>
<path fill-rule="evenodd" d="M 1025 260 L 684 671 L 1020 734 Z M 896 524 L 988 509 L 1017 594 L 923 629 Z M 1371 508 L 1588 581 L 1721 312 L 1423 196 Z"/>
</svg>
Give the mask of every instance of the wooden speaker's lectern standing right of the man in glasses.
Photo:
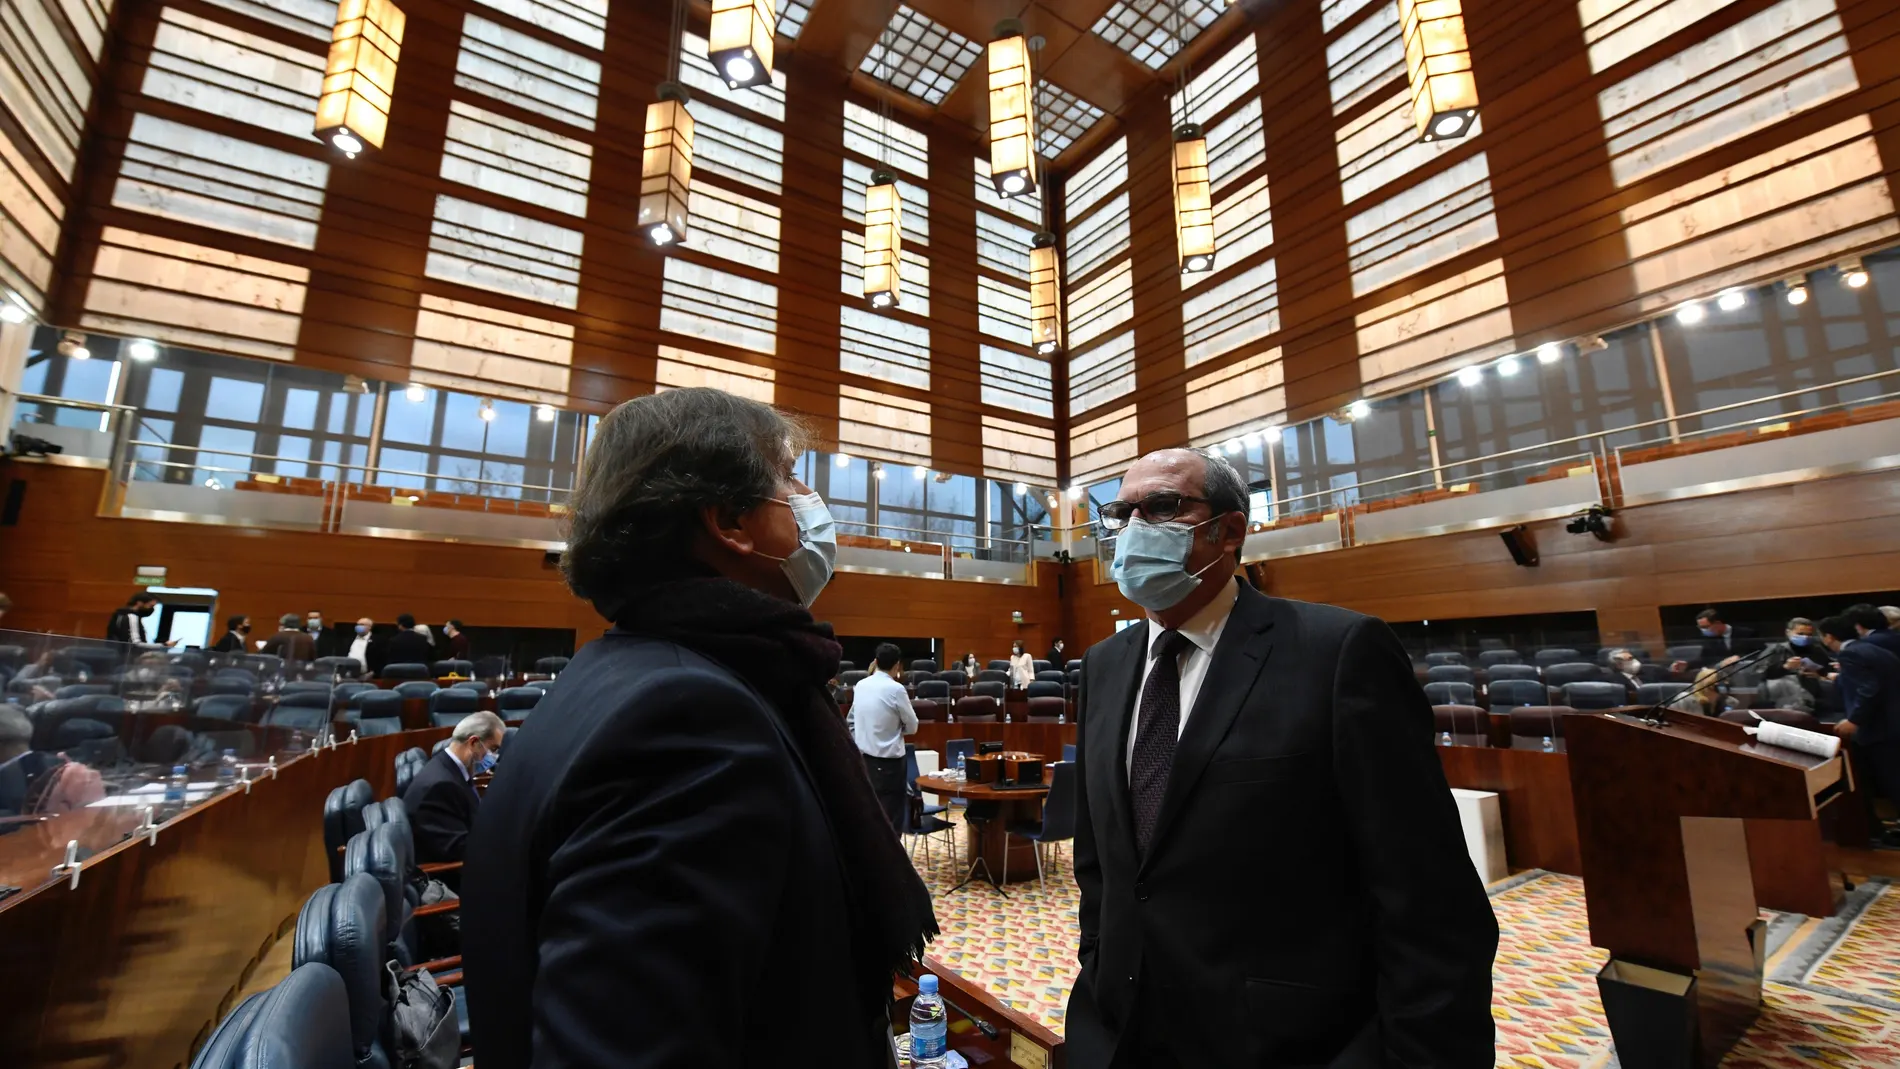
<svg viewBox="0 0 1900 1069">
<path fill-rule="evenodd" d="M 1564 737 L 1617 1060 L 1716 1065 L 1761 1008 L 1744 820 L 1813 820 L 1849 790 L 1847 761 L 1680 712 L 1568 716 Z"/>
</svg>

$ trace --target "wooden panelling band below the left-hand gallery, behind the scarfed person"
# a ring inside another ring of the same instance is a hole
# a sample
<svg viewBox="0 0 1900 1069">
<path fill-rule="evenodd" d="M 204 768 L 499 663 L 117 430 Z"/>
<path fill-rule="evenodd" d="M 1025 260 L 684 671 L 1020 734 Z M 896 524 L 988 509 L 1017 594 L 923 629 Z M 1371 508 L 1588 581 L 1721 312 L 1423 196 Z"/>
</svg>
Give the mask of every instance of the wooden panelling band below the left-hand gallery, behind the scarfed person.
<svg viewBox="0 0 1900 1069">
<path fill-rule="evenodd" d="M 319 610 L 338 621 L 414 613 L 572 628 L 578 642 L 606 628 L 540 549 L 122 520 L 97 515 L 99 471 L 0 461 L 0 484 L 15 478 L 27 490 L 19 526 L 0 534 L 0 591 L 13 598 L 6 628 L 101 636 L 141 564 L 165 566 L 171 585 L 217 591 L 220 617 L 258 623 Z M 817 615 L 838 634 L 942 638 L 988 661 L 1007 657 L 1016 638 L 1039 651 L 1060 634 L 1058 573 L 1039 564 L 1036 587 L 1003 587 L 840 572 Z"/>
</svg>

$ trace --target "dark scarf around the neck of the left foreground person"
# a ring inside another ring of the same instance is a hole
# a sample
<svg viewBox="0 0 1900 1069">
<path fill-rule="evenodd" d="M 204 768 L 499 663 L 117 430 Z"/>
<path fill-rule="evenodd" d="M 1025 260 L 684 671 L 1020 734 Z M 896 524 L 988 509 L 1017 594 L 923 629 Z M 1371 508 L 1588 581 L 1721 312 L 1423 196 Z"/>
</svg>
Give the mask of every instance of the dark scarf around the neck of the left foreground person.
<svg viewBox="0 0 1900 1069">
<path fill-rule="evenodd" d="M 870 792 L 864 758 L 844 727 L 826 684 L 842 647 L 828 623 L 800 606 L 732 579 L 692 575 L 642 592 L 616 623 L 631 634 L 676 642 L 745 678 L 785 718 L 811 769 L 851 910 L 851 951 L 866 997 L 882 1006 L 891 974 L 908 974 L 937 936 L 931 892 Z"/>
</svg>

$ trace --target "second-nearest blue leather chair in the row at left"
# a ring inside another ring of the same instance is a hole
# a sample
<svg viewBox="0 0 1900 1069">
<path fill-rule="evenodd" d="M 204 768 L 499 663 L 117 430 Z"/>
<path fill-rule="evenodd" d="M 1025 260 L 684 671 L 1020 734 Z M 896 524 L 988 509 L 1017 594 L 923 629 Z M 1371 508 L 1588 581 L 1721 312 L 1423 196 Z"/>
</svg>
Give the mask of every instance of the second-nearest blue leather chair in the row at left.
<svg viewBox="0 0 1900 1069">
<path fill-rule="evenodd" d="M 336 970 L 350 1003 L 350 1046 L 359 1069 L 390 1069 L 384 1023 L 390 999 L 384 961 L 390 957 L 388 906 L 382 887 L 369 873 L 319 887 L 296 913 L 291 951 L 294 968 L 321 963 Z"/>
</svg>

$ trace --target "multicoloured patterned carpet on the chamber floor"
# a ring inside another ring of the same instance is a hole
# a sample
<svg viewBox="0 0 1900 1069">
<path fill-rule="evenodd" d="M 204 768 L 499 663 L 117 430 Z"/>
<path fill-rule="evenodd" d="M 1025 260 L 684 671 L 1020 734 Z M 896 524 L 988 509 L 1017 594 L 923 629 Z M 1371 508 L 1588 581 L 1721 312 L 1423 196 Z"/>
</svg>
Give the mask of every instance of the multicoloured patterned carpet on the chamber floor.
<svg viewBox="0 0 1900 1069">
<path fill-rule="evenodd" d="M 922 849 L 916 860 L 942 927 L 931 957 L 1060 1033 L 1081 936 L 1068 851 L 1051 866 L 1047 891 L 1015 883 L 1009 898 L 988 885 L 948 894 L 961 873 L 952 872 L 940 839 L 929 864 Z M 1497 1065 L 1615 1069 L 1596 995 L 1596 970 L 1607 955 L 1590 946 L 1583 881 L 1524 872 L 1490 891 L 1499 927 L 1492 972 Z M 1723 1065 L 1900 1065 L 1900 889 L 1875 879 L 1849 894 L 1834 917 L 1763 917 L 1763 1012 Z"/>
</svg>

